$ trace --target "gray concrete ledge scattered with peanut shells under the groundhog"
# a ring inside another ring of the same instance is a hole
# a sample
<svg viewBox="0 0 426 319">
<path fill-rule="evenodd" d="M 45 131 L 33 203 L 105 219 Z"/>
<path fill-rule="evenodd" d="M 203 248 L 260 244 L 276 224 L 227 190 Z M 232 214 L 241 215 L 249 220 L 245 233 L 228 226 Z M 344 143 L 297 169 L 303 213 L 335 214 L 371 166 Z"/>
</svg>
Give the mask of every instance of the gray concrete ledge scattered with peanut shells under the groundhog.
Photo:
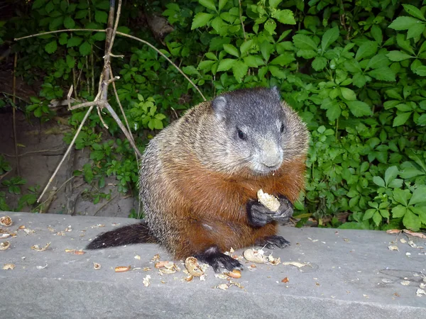
<svg viewBox="0 0 426 319">
<path fill-rule="evenodd" d="M 280 235 L 292 245 L 273 250 L 274 257 L 281 262 L 309 262 L 312 267 L 258 264 L 256 270 L 246 268 L 241 279 L 235 279 L 244 289 L 231 286 L 223 291 L 214 286 L 227 281 L 216 278 L 211 268 L 205 281 L 187 282 L 182 272 L 158 274 L 151 262 L 153 255 L 170 258 L 158 245 L 81 255 L 65 252 L 80 250 L 98 233 L 134 220 L 0 212 L 4 215 L 11 216 L 13 225 L 3 229 L 17 235 L 5 239 L 11 247 L 0 251 L 2 318 L 415 319 L 426 315 L 426 296 L 416 296 L 422 274 L 426 274 L 426 249 L 399 241 L 413 239 L 426 248 L 426 240 L 419 238 L 364 230 L 283 227 Z M 105 227 L 92 228 L 99 224 Z M 26 235 L 17 230 L 20 225 L 35 233 Z M 64 232 L 66 228 L 71 231 Z M 50 247 L 44 252 L 31 250 L 33 245 L 48 242 Z M 399 251 L 388 250 L 389 245 L 397 245 Z M 236 253 L 242 254 L 242 250 Z M 102 268 L 94 270 L 93 262 Z M 15 269 L 1 269 L 7 263 L 15 264 Z M 37 268 L 46 264 L 44 269 Z M 114 267 L 128 265 L 141 269 L 114 272 Z M 153 270 L 144 272 L 143 267 Z M 148 287 L 142 284 L 147 274 L 151 275 Z M 285 277 L 287 283 L 282 282 Z M 404 280 L 410 283 L 403 286 Z"/>
</svg>

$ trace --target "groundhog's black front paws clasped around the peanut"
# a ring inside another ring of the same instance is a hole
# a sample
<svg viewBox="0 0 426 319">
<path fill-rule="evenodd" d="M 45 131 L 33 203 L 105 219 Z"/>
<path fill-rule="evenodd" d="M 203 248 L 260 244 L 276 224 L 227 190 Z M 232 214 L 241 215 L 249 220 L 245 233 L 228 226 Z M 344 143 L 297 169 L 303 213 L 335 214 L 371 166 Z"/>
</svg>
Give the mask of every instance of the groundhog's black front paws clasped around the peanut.
<svg viewBox="0 0 426 319">
<path fill-rule="evenodd" d="M 247 202 L 246 210 L 249 223 L 255 227 L 261 227 L 273 220 L 278 223 L 286 223 L 293 216 L 293 204 L 285 196 L 278 196 L 280 207 L 278 211 L 271 211 L 256 200 Z"/>
</svg>

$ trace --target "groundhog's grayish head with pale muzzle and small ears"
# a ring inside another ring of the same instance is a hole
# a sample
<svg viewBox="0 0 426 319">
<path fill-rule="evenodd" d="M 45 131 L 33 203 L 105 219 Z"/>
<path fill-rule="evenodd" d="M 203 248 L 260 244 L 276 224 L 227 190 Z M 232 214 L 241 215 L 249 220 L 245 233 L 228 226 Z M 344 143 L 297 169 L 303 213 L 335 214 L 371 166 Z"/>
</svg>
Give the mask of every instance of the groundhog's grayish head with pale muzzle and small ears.
<svg viewBox="0 0 426 319">
<path fill-rule="evenodd" d="M 212 108 L 222 131 L 216 138 L 222 143 L 218 156 L 233 172 L 268 174 L 306 152 L 305 125 L 276 87 L 232 91 L 217 96 Z"/>
</svg>

